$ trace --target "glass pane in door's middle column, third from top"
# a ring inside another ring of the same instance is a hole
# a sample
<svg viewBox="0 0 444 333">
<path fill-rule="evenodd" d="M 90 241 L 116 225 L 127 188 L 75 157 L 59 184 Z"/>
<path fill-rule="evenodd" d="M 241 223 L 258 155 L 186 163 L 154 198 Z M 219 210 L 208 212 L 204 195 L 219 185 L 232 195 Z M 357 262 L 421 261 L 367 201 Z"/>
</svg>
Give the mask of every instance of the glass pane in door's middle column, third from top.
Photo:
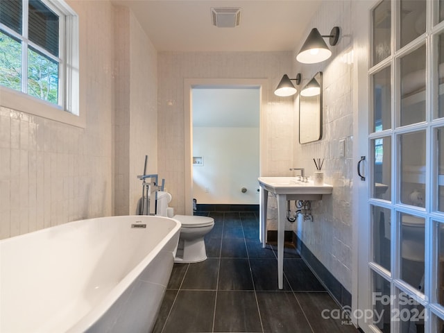
<svg viewBox="0 0 444 333">
<path fill-rule="evenodd" d="M 425 207 L 425 130 L 400 135 L 400 202 Z"/>
</svg>

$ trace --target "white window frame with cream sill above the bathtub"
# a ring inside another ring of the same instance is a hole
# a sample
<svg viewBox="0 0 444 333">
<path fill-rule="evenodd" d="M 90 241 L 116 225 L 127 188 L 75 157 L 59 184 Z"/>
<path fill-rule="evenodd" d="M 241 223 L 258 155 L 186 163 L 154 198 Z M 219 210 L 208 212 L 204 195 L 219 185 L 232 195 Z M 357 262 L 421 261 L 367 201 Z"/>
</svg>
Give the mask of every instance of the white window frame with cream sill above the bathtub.
<svg viewBox="0 0 444 333">
<path fill-rule="evenodd" d="M 79 46 L 79 19 L 74 10 L 71 9 L 63 0 L 41 0 L 45 6 L 60 15 L 59 20 L 59 86 L 58 86 L 58 105 L 38 99 L 26 93 L 26 80 L 22 80 L 22 91 L 0 85 L 0 106 L 12 110 L 34 114 L 38 117 L 68 123 L 81 128 L 86 127 L 86 117 L 84 112 L 80 113 L 80 46 Z M 28 1 L 24 0 L 24 6 L 28 6 Z M 27 9 L 26 9 L 27 10 Z M 2 26 L 2 30 L 13 36 L 17 33 L 11 33 L 10 29 Z M 22 31 L 21 40 L 27 39 L 26 33 Z M 27 41 L 22 43 L 22 53 L 28 52 L 28 47 L 44 53 L 41 46 Z M 28 71 L 27 64 L 26 73 Z M 54 56 L 51 56 L 54 58 Z"/>
</svg>

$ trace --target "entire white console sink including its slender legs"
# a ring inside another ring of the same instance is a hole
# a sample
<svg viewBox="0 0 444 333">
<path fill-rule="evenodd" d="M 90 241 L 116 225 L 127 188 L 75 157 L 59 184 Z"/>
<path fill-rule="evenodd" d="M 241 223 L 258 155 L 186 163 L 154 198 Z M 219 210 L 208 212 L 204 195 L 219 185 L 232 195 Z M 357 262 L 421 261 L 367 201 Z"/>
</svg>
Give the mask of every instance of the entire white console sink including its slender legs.
<svg viewBox="0 0 444 333">
<path fill-rule="evenodd" d="M 266 244 L 266 208 L 268 192 L 271 192 L 278 201 L 278 287 L 283 288 L 284 275 L 284 229 L 286 203 L 288 200 L 322 200 L 323 195 L 332 194 L 332 185 L 314 185 L 313 182 L 301 182 L 296 177 L 259 177 L 262 187 L 260 200 L 259 237 L 262 246 Z"/>
</svg>

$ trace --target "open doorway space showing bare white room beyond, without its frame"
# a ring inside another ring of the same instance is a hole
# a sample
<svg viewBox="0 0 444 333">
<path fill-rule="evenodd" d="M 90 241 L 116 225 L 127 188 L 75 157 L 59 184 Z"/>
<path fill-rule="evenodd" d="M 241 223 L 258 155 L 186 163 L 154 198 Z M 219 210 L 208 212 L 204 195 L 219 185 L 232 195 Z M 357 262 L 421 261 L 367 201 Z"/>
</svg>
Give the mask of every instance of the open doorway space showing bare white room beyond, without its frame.
<svg viewBox="0 0 444 333">
<path fill-rule="evenodd" d="M 259 204 L 259 105 L 259 87 L 192 89 L 194 210 Z"/>
</svg>

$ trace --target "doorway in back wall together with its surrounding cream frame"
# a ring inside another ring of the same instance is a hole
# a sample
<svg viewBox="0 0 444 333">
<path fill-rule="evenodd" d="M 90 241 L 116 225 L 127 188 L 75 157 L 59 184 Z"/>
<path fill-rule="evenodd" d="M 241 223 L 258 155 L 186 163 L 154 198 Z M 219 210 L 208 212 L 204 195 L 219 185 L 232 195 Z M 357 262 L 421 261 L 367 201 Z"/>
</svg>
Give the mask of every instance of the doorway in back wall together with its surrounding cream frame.
<svg viewBox="0 0 444 333">
<path fill-rule="evenodd" d="M 264 79 L 185 80 L 185 214 L 194 213 L 195 197 L 198 203 L 210 205 L 259 204 L 260 105 L 266 84 Z M 240 97 L 243 94 L 251 96 Z M 247 103 L 254 95 L 255 103 L 249 108 L 255 112 L 241 112 L 241 103 Z M 222 99 L 231 99 L 225 101 L 225 108 L 215 105 L 223 104 L 216 102 Z M 251 148 L 253 144 L 255 148 Z"/>
</svg>

